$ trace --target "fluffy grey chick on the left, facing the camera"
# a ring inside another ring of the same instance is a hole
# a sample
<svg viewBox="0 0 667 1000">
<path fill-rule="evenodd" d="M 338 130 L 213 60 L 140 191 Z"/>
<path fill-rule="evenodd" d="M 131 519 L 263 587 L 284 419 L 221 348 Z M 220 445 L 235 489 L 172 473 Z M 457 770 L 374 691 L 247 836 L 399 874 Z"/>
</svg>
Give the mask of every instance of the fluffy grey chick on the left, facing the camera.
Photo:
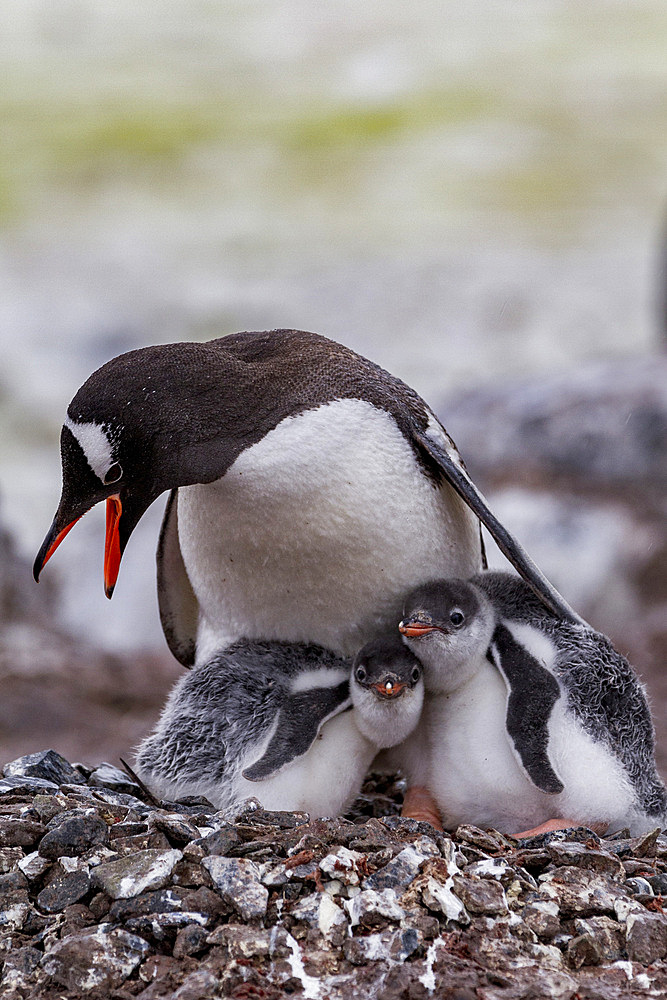
<svg viewBox="0 0 667 1000">
<path fill-rule="evenodd" d="M 205 795 L 229 810 L 254 796 L 333 816 L 378 747 L 416 725 L 420 681 L 395 640 L 364 647 L 351 680 L 350 660 L 321 647 L 241 641 L 177 682 L 136 770 L 163 797 Z"/>
</svg>

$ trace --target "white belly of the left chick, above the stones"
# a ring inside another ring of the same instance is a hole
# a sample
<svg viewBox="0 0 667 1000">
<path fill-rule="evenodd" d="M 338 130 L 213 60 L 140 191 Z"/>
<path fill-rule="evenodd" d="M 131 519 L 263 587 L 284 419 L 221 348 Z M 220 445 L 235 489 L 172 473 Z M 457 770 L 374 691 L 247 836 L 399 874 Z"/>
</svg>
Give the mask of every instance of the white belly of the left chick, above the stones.
<svg viewBox="0 0 667 1000">
<path fill-rule="evenodd" d="M 235 795 L 254 796 L 265 809 L 288 809 L 311 816 L 337 816 L 361 788 L 377 747 L 359 732 L 354 712 L 343 712 L 322 727 L 299 760 L 265 781 L 239 776 Z"/>
</svg>

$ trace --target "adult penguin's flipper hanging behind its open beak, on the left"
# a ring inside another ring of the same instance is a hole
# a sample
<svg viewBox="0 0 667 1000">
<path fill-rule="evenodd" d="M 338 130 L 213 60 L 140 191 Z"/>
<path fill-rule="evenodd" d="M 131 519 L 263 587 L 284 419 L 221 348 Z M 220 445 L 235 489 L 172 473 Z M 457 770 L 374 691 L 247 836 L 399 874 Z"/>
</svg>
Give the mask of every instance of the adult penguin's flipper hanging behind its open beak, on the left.
<svg viewBox="0 0 667 1000">
<path fill-rule="evenodd" d="M 157 550 L 160 621 L 169 649 L 179 663 L 195 661 L 199 605 L 178 542 L 178 490 L 172 490 L 162 519 Z"/>
</svg>

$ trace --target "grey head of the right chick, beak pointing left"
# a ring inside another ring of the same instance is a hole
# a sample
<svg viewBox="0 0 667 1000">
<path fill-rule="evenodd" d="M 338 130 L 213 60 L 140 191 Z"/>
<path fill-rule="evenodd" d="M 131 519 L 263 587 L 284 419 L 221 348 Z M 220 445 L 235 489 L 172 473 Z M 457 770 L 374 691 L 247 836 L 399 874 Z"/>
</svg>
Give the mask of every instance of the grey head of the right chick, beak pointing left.
<svg viewBox="0 0 667 1000">
<path fill-rule="evenodd" d="M 429 691 L 453 691 L 486 657 L 495 615 L 482 591 L 465 580 L 436 580 L 408 594 L 399 632 L 424 666 Z"/>
</svg>

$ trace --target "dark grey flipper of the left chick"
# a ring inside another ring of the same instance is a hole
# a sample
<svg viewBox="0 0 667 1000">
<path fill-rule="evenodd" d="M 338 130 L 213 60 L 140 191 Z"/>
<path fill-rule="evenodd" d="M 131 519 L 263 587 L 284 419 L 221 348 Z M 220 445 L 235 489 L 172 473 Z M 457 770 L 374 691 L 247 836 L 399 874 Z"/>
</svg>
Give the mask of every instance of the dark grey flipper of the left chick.
<svg viewBox="0 0 667 1000">
<path fill-rule="evenodd" d="M 248 781 L 271 778 L 310 750 L 328 719 L 349 708 L 350 686 L 343 681 L 336 687 L 312 688 L 292 694 L 280 709 L 278 724 L 269 745 L 250 767 L 243 770 Z M 335 761 L 332 761 L 335 767 Z"/>
</svg>

